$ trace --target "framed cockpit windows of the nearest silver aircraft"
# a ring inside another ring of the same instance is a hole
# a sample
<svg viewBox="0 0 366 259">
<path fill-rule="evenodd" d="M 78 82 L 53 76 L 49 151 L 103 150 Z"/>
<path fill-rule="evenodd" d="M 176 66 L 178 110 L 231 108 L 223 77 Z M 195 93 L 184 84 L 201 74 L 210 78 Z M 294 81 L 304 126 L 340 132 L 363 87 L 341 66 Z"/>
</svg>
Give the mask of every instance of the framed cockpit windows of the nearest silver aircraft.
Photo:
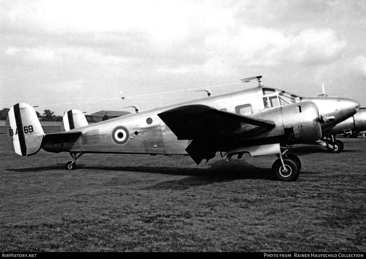
<svg viewBox="0 0 366 259">
<path fill-rule="evenodd" d="M 286 91 L 281 91 L 279 94 L 275 94 L 275 92 L 275 89 L 263 88 L 263 95 L 270 95 L 268 97 L 263 97 L 265 109 L 287 104 L 294 104 L 302 100 L 302 97 L 288 93 Z"/>
</svg>

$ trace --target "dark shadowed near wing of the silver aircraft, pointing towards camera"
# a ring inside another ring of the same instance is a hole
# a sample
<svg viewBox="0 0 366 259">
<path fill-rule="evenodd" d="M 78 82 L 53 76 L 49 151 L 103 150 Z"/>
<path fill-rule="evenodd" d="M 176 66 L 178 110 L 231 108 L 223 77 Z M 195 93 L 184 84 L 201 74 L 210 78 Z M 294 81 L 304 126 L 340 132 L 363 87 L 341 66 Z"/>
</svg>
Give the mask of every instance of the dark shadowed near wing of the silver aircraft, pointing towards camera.
<svg viewBox="0 0 366 259">
<path fill-rule="evenodd" d="M 214 140 L 232 136 L 250 137 L 275 127 L 273 121 L 224 112 L 206 105 L 186 105 L 158 116 L 178 139 Z"/>
</svg>

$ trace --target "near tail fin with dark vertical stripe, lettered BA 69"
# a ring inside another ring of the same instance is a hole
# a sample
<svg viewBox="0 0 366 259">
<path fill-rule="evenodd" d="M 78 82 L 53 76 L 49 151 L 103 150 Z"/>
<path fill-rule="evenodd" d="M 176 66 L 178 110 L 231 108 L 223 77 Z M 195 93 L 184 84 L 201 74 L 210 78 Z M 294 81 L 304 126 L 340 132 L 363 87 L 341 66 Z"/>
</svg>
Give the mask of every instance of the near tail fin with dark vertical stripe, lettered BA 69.
<svg viewBox="0 0 366 259">
<path fill-rule="evenodd" d="M 41 149 L 44 132 L 36 111 L 23 102 L 14 105 L 6 118 L 6 138 L 18 155 L 33 155 Z"/>
</svg>

